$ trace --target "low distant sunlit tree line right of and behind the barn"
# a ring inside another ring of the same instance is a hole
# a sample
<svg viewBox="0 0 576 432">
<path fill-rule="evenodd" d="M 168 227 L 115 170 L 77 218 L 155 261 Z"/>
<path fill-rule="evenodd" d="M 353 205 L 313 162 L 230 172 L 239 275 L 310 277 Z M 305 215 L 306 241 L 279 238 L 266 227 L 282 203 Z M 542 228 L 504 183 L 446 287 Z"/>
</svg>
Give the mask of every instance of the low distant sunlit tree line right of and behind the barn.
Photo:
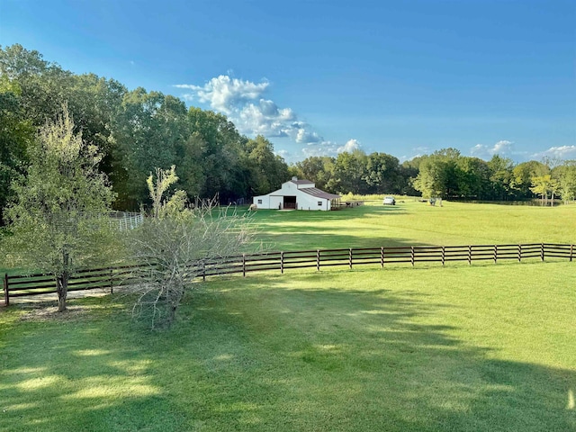
<svg viewBox="0 0 576 432">
<path fill-rule="evenodd" d="M 467 157 L 455 148 L 400 163 L 385 153 L 361 150 L 338 157 L 309 157 L 291 166 L 322 189 L 333 193 L 397 193 L 425 198 L 482 201 L 522 201 L 536 197 L 545 203 L 576 197 L 576 160 L 545 158 L 515 164 L 494 155 L 489 161 Z"/>
</svg>

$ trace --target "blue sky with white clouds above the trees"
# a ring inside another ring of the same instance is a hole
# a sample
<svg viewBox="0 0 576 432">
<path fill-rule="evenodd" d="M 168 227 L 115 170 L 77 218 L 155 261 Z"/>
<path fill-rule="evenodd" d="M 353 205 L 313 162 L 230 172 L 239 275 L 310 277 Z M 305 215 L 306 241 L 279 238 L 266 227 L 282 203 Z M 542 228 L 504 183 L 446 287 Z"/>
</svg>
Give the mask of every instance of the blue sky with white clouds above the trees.
<svg viewBox="0 0 576 432">
<path fill-rule="evenodd" d="M 0 0 L 0 44 L 174 94 L 288 162 L 576 158 L 576 2 Z"/>
</svg>

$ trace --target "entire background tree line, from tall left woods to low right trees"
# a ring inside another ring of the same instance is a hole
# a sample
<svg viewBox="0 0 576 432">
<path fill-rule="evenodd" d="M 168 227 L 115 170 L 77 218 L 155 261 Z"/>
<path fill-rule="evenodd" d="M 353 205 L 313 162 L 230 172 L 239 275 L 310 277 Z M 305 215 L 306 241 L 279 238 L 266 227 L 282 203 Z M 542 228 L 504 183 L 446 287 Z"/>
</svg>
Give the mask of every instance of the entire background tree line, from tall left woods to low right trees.
<svg viewBox="0 0 576 432">
<path fill-rule="evenodd" d="M 156 167 L 178 166 L 176 187 L 190 197 L 241 202 L 269 193 L 292 175 L 331 193 L 422 194 L 451 199 L 524 200 L 576 194 L 575 161 L 514 164 L 462 156 L 454 148 L 403 163 L 361 150 L 338 157 L 308 157 L 288 165 L 272 142 L 238 132 L 220 113 L 187 108 L 169 94 L 128 90 L 114 79 L 74 74 L 35 50 L 0 47 L 0 211 L 14 200 L 10 184 L 27 175 L 28 148 L 38 130 L 56 121 L 66 103 L 74 132 L 94 145 L 98 165 L 112 184 L 113 207 L 151 204 L 146 179 Z M 2 219 L 2 213 L 0 213 Z"/>
</svg>

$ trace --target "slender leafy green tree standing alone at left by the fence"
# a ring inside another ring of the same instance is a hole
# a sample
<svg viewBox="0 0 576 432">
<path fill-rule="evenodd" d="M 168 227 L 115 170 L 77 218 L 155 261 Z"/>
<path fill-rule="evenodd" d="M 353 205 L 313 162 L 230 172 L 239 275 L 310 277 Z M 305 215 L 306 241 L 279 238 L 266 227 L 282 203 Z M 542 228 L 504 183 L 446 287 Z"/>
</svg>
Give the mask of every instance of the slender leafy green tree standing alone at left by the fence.
<svg viewBox="0 0 576 432">
<path fill-rule="evenodd" d="M 98 170 L 101 155 L 74 133 L 66 108 L 40 130 L 29 155 L 27 176 L 13 183 L 8 250 L 16 263 L 55 276 L 58 311 L 65 311 L 70 276 L 115 256 L 106 215 L 114 195 Z"/>
</svg>

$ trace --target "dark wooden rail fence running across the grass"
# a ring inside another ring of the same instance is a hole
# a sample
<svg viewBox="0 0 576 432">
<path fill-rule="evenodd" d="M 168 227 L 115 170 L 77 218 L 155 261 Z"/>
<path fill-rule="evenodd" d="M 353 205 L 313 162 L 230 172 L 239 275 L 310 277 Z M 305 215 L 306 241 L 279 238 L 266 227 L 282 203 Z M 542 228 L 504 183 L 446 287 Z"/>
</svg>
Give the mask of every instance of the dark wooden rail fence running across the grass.
<svg viewBox="0 0 576 432">
<path fill-rule="evenodd" d="M 234 257 L 202 261 L 191 273 L 206 279 L 207 276 L 242 274 L 250 272 L 279 271 L 297 268 L 322 268 L 330 266 L 381 267 L 417 263 L 441 263 L 464 261 L 518 260 L 546 257 L 565 258 L 571 262 L 575 255 L 574 245 L 554 243 L 530 243 L 524 245 L 474 245 L 474 246 L 413 246 L 413 247 L 361 247 L 344 249 L 311 249 L 292 252 L 268 252 L 245 254 Z M 140 266 L 119 266 L 83 270 L 70 278 L 68 291 L 104 289 L 113 292 L 114 286 L 125 284 L 127 277 Z M 10 298 L 45 293 L 56 293 L 56 283 L 49 275 L 4 275 L 4 305 Z"/>
</svg>

